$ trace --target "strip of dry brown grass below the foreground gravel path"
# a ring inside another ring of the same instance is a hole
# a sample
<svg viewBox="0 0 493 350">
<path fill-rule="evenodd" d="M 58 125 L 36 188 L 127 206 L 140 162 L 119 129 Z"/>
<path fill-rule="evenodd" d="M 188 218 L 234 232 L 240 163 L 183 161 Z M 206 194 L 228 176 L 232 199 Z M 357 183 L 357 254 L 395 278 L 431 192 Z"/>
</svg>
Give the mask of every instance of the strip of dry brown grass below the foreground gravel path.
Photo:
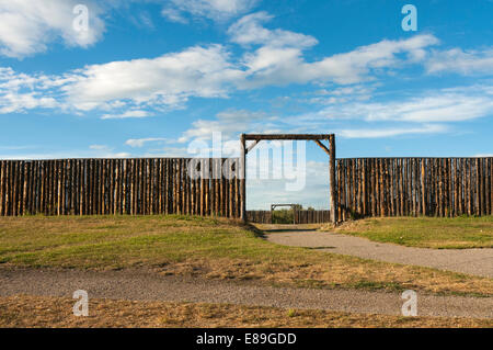
<svg viewBox="0 0 493 350">
<path fill-rule="evenodd" d="M 91 300 L 89 316 L 76 317 L 73 303 L 67 297 L 0 297 L 0 327 L 493 327 L 491 319 L 113 300 Z"/>
</svg>

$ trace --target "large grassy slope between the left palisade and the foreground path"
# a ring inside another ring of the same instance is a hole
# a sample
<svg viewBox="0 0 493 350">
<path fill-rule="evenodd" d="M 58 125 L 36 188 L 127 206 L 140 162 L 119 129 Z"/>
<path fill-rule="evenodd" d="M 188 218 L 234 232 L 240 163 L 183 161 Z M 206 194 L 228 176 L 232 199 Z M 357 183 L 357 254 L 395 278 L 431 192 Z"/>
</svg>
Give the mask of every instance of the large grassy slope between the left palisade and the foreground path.
<svg viewBox="0 0 493 350">
<path fill-rule="evenodd" d="M 302 287 L 493 295 L 493 280 L 284 247 L 227 219 L 190 216 L 0 218 L 0 267 L 125 269 Z"/>
</svg>

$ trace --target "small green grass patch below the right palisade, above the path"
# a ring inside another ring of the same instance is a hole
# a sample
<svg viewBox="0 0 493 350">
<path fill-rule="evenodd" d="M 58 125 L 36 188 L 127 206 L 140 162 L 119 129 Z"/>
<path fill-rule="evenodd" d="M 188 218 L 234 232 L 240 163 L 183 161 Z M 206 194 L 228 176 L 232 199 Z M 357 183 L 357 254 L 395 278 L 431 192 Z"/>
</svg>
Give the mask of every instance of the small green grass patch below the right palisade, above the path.
<svg viewBox="0 0 493 350">
<path fill-rule="evenodd" d="M 493 216 L 365 218 L 347 222 L 335 232 L 408 247 L 437 249 L 493 247 Z"/>
</svg>

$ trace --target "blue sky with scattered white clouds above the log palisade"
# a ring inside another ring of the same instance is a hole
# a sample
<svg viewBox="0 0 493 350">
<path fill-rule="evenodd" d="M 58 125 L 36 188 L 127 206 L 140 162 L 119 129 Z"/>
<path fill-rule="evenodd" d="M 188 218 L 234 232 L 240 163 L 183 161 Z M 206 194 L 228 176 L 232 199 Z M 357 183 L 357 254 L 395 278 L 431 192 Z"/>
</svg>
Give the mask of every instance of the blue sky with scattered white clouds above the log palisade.
<svg viewBox="0 0 493 350">
<path fill-rule="evenodd" d="M 492 155 L 492 14 L 489 0 L 0 0 L 0 158 L 186 156 L 213 132 L 335 133 L 339 157 Z M 326 156 L 306 149 L 306 189 L 249 181 L 249 208 L 328 206 Z"/>
</svg>

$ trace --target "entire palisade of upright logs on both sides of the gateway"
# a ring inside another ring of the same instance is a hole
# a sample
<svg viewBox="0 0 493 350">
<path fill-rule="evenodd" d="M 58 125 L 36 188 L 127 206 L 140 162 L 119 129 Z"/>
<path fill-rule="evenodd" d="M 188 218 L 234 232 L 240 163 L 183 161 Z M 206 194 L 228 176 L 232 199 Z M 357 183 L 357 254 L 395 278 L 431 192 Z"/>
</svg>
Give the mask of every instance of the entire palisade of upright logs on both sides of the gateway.
<svg viewBox="0 0 493 350">
<path fill-rule="evenodd" d="M 240 162 L 239 158 L 0 160 L 0 216 L 242 217 L 245 193 Z M 493 158 L 337 159 L 337 221 L 491 215 L 492 167 Z M 251 221 L 270 219 L 264 216 Z M 298 221 L 319 221 L 303 217 Z M 325 221 L 325 214 L 322 217 Z"/>
</svg>

